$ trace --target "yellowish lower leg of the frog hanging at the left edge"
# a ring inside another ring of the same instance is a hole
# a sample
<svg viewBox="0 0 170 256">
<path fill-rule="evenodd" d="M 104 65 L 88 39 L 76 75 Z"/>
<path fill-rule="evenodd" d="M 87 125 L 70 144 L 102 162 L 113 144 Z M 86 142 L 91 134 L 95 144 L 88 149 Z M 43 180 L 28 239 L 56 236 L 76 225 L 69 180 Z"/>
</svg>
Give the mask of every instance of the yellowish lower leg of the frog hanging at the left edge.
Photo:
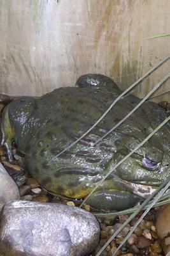
<svg viewBox="0 0 170 256">
<path fill-rule="evenodd" d="M 1 141 L 1 145 L 4 145 L 6 148 L 6 152 L 8 154 L 8 159 L 10 162 L 13 161 L 13 154 L 12 154 L 12 147 L 11 143 L 14 138 L 14 131 L 11 128 L 10 125 L 10 118 L 8 115 L 8 106 L 4 108 L 3 114 L 2 114 L 2 122 L 1 122 L 1 131 L 3 134 L 3 140 Z"/>
</svg>

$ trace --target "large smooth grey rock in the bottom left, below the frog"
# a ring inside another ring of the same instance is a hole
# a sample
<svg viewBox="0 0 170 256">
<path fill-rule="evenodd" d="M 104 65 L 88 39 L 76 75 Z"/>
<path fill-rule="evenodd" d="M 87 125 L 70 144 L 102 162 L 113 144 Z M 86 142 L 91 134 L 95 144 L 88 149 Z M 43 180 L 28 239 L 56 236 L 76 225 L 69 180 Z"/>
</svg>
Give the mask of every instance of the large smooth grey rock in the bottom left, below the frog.
<svg viewBox="0 0 170 256">
<path fill-rule="evenodd" d="M 83 256 L 99 235 L 94 215 L 78 207 L 16 200 L 1 212 L 0 252 L 10 256 Z"/>
</svg>

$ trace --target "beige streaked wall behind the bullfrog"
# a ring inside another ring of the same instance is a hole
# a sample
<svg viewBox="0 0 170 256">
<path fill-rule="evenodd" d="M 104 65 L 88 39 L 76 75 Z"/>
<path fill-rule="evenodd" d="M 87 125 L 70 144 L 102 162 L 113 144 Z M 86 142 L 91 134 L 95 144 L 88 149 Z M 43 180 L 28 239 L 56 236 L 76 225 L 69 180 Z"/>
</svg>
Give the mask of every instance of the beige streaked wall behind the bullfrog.
<svg viewBox="0 0 170 256">
<path fill-rule="evenodd" d="M 98 72 L 124 89 L 170 54 L 169 0 L 1 0 L 0 93 L 41 95 Z M 135 91 L 143 97 L 170 60 Z M 167 81 L 157 93 L 169 90 Z M 169 93 L 157 100 L 168 100 Z"/>
</svg>

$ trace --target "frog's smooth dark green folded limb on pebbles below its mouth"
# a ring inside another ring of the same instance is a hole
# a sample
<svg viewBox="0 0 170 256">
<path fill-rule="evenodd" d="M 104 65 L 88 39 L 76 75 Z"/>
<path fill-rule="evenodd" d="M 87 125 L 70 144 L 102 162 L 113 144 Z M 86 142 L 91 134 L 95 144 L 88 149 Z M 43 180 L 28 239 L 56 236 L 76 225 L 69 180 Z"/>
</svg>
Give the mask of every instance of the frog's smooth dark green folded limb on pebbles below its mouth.
<svg viewBox="0 0 170 256">
<path fill-rule="evenodd" d="M 87 200 L 87 204 L 100 211 L 122 211 L 133 207 L 141 200 L 140 196 L 127 191 L 103 189 L 94 192 Z"/>
</svg>

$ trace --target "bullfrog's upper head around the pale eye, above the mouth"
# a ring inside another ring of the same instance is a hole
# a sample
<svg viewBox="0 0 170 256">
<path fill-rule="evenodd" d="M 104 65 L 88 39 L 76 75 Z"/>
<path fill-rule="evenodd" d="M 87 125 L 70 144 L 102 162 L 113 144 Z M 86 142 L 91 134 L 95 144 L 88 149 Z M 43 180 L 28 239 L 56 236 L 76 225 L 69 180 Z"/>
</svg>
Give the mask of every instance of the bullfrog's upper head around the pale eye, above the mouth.
<svg viewBox="0 0 170 256">
<path fill-rule="evenodd" d="M 169 127 L 165 125 L 157 134 L 153 135 L 143 147 L 139 148 L 124 163 L 117 168 L 121 179 L 137 184 L 159 186 L 170 176 L 170 141 Z M 129 136 L 119 141 L 115 154 L 118 163 L 141 142 L 141 138 Z M 122 147 L 121 147 L 122 146 Z"/>
</svg>

